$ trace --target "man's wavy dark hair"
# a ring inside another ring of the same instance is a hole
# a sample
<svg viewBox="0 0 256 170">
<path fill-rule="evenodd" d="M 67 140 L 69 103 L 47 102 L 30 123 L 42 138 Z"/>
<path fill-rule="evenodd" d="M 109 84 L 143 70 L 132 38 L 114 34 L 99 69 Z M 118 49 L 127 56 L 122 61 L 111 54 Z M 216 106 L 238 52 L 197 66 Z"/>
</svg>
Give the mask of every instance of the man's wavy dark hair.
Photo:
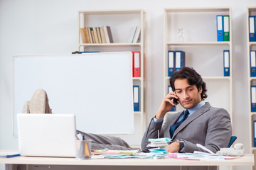
<svg viewBox="0 0 256 170">
<path fill-rule="evenodd" d="M 203 81 L 202 77 L 196 70 L 190 67 L 183 67 L 180 71 L 174 72 L 174 74 L 170 77 L 170 85 L 172 91 L 175 91 L 174 81 L 176 79 L 187 79 L 189 85 L 196 85 L 197 89 L 199 90 L 200 87 L 202 87 L 202 94 L 201 98 L 204 100 L 204 98 L 207 98 L 206 94 L 206 83 Z"/>
</svg>

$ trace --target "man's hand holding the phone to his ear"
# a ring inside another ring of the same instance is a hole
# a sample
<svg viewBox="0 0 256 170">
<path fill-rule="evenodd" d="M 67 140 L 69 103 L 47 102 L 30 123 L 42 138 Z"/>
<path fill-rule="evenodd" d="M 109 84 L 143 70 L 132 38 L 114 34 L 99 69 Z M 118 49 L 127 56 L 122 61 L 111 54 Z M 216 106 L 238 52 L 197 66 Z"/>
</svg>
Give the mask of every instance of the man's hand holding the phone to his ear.
<svg viewBox="0 0 256 170">
<path fill-rule="evenodd" d="M 156 119 L 164 118 L 164 115 L 171 111 L 172 108 L 174 108 L 175 104 L 177 103 L 172 101 L 173 98 L 178 99 L 178 96 L 176 96 L 175 92 L 170 92 L 165 98 L 163 98 L 158 111 L 156 111 Z"/>
</svg>

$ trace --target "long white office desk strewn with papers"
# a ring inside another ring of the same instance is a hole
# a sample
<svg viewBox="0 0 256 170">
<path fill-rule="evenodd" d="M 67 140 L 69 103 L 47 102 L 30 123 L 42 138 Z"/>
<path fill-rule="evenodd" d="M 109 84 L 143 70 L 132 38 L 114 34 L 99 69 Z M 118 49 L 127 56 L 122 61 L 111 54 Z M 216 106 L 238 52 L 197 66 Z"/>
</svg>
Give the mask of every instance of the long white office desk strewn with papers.
<svg viewBox="0 0 256 170">
<path fill-rule="evenodd" d="M 244 157 L 228 159 L 225 161 L 191 161 L 181 159 L 89 159 L 78 160 L 75 158 L 60 157 L 12 157 L 0 158 L 0 164 L 8 164 L 7 169 L 15 169 L 11 165 L 44 165 L 45 167 L 60 166 L 78 166 L 88 169 L 134 169 L 135 166 L 143 169 L 156 169 L 169 166 L 252 166 L 254 165 L 254 155 L 245 154 Z M 11 168 L 10 168 L 11 167 Z M 43 167 L 43 166 L 42 166 Z M 170 168 L 170 167 L 169 167 Z M 26 169 L 29 169 L 26 167 Z"/>
</svg>

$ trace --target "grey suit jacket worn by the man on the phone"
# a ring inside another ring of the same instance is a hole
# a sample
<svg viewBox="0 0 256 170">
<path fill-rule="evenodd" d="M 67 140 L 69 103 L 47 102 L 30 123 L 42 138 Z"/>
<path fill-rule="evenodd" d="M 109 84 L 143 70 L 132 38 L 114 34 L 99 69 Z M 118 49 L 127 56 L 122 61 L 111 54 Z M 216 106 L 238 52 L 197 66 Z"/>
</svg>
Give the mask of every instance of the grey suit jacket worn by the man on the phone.
<svg viewBox="0 0 256 170">
<path fill-rule="evenodd" d="M 149 147 L 146 147 L 148 139 L 157 138 L 158 130 L 160 137 L 171 138 L 170 126 L 176 123 L 181 114 L 183 112 L 169 115 L 164 125 L 155 123 L 152 119 L 142 139 L 142 151 L 148 152 Z M 186 145 L 183 152 L 205 152 L 196 146 L 196 144 L 201 144 L 215 153 L 220 148 L 228 147 L 231 135 L 232 127 L 228 112 L 223 108 L 214 108 L 210 106 L 210 103 L 206 103 L 181 123 L 175 130 L 172 141 L 183 140 Z"/>
</svg>

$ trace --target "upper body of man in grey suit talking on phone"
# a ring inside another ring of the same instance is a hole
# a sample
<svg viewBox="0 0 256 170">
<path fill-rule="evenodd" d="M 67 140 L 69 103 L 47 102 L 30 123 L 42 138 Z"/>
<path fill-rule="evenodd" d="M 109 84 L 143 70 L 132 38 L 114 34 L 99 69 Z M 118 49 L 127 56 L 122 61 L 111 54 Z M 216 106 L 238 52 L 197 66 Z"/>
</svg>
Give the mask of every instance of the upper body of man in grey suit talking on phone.
<svg viewBox="0 0 256 170">
<path fill-rule="evenodd" d="M 151 119 L 142 139 L 142 151 L 148 152 L 149 138 L 172 138 L 166 147 L 167 152 L 206 152 L 196 144 L 203 145 L 212 152 L 228 147 L 232 128 L 230 115 L 223 108 L 214 108 L 205 102 L 207 98 L 206 83 L 194 69 L 183 67 L 174 72 L 170 78 L 174 92 L 170 92 L 163 100 Z M 183 106 L 184 111 L 171 114 L 163 125 L 164 115 L 175 106 L 174 98 Z"/>
</svg>

